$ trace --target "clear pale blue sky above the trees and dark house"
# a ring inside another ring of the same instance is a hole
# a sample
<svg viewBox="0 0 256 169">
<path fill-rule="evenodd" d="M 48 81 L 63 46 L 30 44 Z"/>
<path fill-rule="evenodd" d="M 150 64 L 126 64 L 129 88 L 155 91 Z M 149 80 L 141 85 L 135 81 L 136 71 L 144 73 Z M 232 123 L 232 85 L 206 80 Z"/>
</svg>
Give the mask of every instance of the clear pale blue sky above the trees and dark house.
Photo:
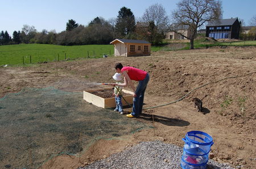
<svg viewBox="0 0 256 169">
<path fill-rule="evenodd" d="M 43 29 L 59 33 L 65 31 L 69 19 L 86 26 L 97 16 L 108 20 L 116 18 L 123 7 L 131 9 L 135 18 L 155 3 L 162 4 L 167 15 L 177 9 L 180 0 L 0 0 L 0 31 L 13 35 L 21 31 L 24 24 L 34 26 L 38 32 Z M 249 26 L 256 15 L 255 0 L 222 0 L 223 19 L 239 18 Z"/>
</svg>

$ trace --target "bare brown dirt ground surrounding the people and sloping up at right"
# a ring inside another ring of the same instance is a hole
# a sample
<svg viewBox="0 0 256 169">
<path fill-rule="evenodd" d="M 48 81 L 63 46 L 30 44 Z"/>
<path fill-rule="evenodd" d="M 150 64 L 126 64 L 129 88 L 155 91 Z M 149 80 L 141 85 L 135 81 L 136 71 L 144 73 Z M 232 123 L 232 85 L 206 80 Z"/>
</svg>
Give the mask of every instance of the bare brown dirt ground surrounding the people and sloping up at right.
<svg viewBox="0 0 256 169">
<path fill-rule="evenodd" d="M 180 102 L 146 109 L 140 118 L 134 119 L 152 124 L 154 129 L 144 129 L 120 140 L 99 140 L 81 156 L 80 162 L 77 157 L 61 155 L 42 168 L 84 166 L 141 141 L 162 140 L 182 147 L 181 138 L 190 130 L 201 130 L 213 137 L 211 152 L 214 160 L 234 167 L 256 166 L 255 47 L 152 52 L 147 57 L 108 57 L 33 67 L 1 67 L 0 98 L 24 87 L 55 86 L 65 91 L 99 88 L 102 86 L 94 83 L 114 82 L 116 62 L 150 74 L 144 108 L 170 103 L 199 86 L 213 83 L 191 92 Z M 192 98 L 203 100 L 204 113 L 197 112 Z"/>
</svg>

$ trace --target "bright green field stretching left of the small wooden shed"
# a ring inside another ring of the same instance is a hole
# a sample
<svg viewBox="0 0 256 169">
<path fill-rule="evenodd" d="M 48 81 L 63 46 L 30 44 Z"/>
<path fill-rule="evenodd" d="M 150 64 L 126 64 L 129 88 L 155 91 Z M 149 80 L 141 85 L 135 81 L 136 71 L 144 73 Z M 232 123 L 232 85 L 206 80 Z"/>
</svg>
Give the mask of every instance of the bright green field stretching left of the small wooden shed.
<svg viewBox="0 0 256 169">
<path fill-rule="evenodd" d="M 0 45 L 0 66 L 35 64 L 44 61 L 65 60 L 65 58 L 102 57 L 114 54 L 113 45 L 60 46 L 48 44 Z M 59 57 L 58 57 L 59 55 Z"/>
</svg>

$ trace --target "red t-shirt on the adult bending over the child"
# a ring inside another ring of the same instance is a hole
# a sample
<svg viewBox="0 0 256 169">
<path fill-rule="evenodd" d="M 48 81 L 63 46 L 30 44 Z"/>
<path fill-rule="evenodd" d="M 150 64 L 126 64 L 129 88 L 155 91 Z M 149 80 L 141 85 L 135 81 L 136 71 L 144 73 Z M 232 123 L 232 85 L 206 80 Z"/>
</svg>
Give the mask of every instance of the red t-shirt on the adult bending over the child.
<svg viewBox="0 0 256 169">
<path fill-rule="evenodd" d="M 135 67 L 125 66 L 121 69 L 122 73 L 123 71 L 126 71 L 129 75 L 130 79 L 133 81 L 142 81 L 146 77 L 147 71 L 137 69 Z"/>
</svg>

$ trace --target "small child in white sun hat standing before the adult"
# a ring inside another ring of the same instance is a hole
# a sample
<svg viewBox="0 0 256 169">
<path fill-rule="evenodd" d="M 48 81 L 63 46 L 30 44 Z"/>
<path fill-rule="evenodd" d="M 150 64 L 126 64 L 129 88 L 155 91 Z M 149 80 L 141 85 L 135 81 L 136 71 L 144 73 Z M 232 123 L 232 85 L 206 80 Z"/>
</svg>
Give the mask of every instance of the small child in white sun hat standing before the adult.
<svg viewBox="0 0 256 169">
<path fill-rule="evenodd" d="M 121 76 L 121 74 L 115 73 L 113 75 L 113 79 L 117 81 L 117 83 L 122 83 Z M 118 111 L 121 115 L 123 115 L 122 88 L 119 86 L 115 86 L 113 96 L 115 96 L 115 103 L 117 104 L 117 107 L 114 109 L 114 111 Z"/>
</svg>

